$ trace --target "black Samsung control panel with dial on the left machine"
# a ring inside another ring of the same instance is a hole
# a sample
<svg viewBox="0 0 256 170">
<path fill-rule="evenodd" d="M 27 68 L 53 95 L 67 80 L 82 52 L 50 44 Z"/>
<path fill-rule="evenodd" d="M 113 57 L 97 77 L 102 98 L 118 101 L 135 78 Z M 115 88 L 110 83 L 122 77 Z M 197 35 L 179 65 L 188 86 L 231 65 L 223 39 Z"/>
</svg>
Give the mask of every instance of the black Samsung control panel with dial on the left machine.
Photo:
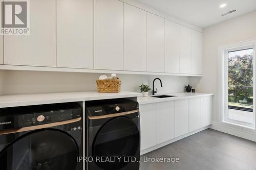
<svg viewBox="0 0 256 170">
<path fill-rule="evenodd" d="M 81 115 L 82 109 L 76 103 L 0 109 L 0 130 L 62 122 Z"/>
</svg>

